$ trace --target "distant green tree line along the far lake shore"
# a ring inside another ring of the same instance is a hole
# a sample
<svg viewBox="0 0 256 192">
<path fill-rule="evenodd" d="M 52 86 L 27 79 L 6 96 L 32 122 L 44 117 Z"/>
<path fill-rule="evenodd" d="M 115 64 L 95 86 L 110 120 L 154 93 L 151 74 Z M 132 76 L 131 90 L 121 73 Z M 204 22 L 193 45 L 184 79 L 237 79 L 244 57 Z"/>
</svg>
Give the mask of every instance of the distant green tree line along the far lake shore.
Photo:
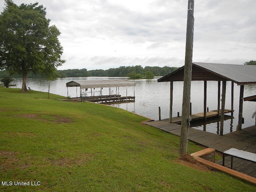
<svg viewBox="0 0 256 192">
<path fill-rule="evenodd" d="M 68 69 L 68 70 L 57 70 L 60 78 L 66 77 L 130 77 L 131 79 L 140 78 L 154 78 L 154 76 L 164 76 L 174 70 L 177 67 L 142 67 L 137 66 L 121 66 L 119 68 L 110 68 L 107 70 L 87 70 L 87 69 Z M 0 78 L 10 76 L 11 78 L 22 78 L 22 75 L 10 75 L 8 71 L 0 71 Z M 45 78 L 41 74 L 28 73 L 28 78 Z"/>
</svg>

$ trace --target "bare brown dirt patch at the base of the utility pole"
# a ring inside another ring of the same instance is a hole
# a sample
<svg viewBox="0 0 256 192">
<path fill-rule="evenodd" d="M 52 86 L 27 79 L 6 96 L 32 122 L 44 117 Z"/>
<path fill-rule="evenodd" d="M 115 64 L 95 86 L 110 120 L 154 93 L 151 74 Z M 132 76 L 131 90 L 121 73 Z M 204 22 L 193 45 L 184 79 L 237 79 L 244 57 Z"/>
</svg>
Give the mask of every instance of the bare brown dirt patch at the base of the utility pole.
<svg viewBox="0 0 256 192">
<path fill-rule="evenodd" d="M 190 156 L 190 154 L 186 154 L 184 157 L 180 157 L 175 161 L 180 164 L 190 166 L 192 168 L 195 168 L 195 169 L 201 170 L 201 171 L 211 171 L 212 170 L 210 167 L 196 161 L 192 156 Z"/>
</svg>

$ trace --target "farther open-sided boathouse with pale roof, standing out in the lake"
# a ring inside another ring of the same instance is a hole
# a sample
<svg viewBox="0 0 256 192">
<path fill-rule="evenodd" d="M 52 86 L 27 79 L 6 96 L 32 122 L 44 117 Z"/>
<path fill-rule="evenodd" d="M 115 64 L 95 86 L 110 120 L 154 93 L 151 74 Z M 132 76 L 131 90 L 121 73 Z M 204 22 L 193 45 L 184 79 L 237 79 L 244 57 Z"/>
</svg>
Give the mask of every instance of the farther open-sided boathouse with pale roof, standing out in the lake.
<svg viewBox="0 0 256 192">
<path fill-rule="evenodd" d="M 66 83 L 67 91 L 69 87 L 76 87 L 80 89 L 80 101 L 91 102 L 117 102 L 117 101 L 134 101 L 135 93 L 133 96 L 128 96 L 127 87 L 135 87 L 135 82 L 126 79 L 108 79 L 108 80 L 78 80 Z M 126 87 L 126 95 L 121 96 L 119 87 Z M 96 91 L 96 88 L 100 90 Z M 103 88 L 109 88 L 109 94 L 102 94 Z M 111 88 L 115 88 L 111 90 Z M 115 94 L 114 94 L 115 92 Z M 76 95 L 77 89 L 76 89 Z"/>
</svg>

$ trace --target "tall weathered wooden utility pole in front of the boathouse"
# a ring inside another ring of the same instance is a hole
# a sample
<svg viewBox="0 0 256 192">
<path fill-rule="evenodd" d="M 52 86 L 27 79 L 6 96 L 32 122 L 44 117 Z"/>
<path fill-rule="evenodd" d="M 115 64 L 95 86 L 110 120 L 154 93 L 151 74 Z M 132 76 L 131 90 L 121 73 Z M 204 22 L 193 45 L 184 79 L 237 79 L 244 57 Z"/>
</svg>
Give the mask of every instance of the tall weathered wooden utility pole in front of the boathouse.
<svg viewBox="0 0 256 192">
<path fill-rule="evenodd" d="M 190 105 L 190 87 L 191 87 L 191 77 L 192 77 L 193 34 L 194 34 L 194 0 L 188 0 L 186 53 L 185 53 L 183 100 L 182 100 L 182 120 L 181 120 L 181 131 L 180 131 L 180 156 L 181 157 L 187 154 L 187 146 L 188 146 L 188 127 L 190 124 L 189 105 Z"/>
</svg>

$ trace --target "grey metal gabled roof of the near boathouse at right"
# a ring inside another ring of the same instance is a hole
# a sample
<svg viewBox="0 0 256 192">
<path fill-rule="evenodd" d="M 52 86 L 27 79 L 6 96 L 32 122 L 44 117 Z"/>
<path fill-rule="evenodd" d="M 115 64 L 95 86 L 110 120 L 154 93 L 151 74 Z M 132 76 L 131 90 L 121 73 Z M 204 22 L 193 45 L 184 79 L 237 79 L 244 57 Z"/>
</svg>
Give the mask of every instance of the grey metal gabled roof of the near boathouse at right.
<svg viewBox="0 0 256 192">
<path fill-rule="evenodd" d="M 158 82 L 183 81 L 184 66 L 158 79 Z M 238 85 L 256 84 L 256 66 L 192 62 L 192 81 L 232 81 Z"/>
</svg>

